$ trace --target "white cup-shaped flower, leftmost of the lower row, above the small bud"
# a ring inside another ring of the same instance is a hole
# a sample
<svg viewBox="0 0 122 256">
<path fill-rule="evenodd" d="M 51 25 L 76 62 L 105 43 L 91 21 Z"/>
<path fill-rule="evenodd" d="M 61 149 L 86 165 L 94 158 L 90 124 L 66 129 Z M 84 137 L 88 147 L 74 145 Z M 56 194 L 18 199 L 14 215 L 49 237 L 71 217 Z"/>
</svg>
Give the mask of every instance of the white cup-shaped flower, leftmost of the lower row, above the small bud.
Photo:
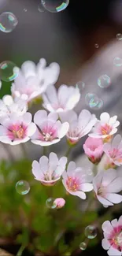
<svg viewBox="0 0 122 256">
<path fill-rule="evenodd" d="M 49 158 L 43 156 L 38 161 L 32 162 L 32 173 L 35 180 L 39 180 L 43 185 L 53 186 L 61 178 L 65 171 L 67 158 L 57 158 L 57 154 L 51 152 Z"/>
</svg>

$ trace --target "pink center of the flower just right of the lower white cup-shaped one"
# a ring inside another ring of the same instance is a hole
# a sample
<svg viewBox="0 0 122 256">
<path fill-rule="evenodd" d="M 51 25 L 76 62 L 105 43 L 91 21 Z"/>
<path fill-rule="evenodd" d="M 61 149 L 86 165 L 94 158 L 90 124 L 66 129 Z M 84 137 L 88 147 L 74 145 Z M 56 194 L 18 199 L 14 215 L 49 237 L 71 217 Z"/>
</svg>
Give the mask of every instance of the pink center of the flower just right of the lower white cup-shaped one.
<svg viewBox="0 0 122 256">
<path fill-rule="evenodd" d="M 68 176 L 68 179 L 66 180 L 66 184 L 69 191 L 75 192 L 79 190 L 79 180 L 76 177 Z"/>
</svg>

